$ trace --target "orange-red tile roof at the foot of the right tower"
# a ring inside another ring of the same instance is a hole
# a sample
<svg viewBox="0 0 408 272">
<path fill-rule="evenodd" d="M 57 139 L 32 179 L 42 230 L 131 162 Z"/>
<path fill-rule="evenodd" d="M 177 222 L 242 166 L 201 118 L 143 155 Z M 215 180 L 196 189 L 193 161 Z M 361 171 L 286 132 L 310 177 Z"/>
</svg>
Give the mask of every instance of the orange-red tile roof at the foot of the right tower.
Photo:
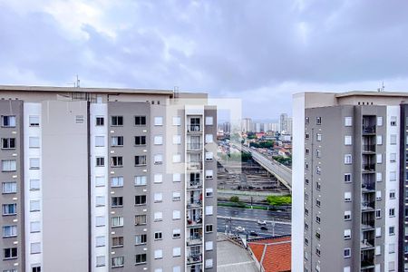
<svg viewBox="0 0 408 272">
<path fill-rule="evenodd" d="M 262 267 L 266 272 L 290 271 L 292 248 L 290 236 L 251 240 L 248 246 L 257 261 L 262 262 Z"/>
</svg>

